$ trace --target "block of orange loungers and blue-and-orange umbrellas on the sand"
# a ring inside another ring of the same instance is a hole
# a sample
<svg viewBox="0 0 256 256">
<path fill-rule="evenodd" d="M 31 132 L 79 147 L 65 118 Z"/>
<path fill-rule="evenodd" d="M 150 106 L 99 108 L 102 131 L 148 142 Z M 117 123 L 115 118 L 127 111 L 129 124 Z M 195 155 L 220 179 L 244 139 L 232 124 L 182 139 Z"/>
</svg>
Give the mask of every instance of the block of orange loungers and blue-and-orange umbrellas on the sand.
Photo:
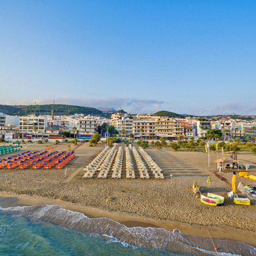
<svg viewBox="0 0 256 256">
<path fill-rule="evenodd" d="M 66 151 L 61 153 L 58 151 L 49 153 L 47 150 L 41 153 L 39 151 L 26 151 L 21 154 L 16 154 L 8 158 L 1 159 L 0 168 L 24 169 L 33 165 L 32 169 L 39 169 L 42 166 L 44 166 L 44 169 L 49 169 L 55 164 L 60 167 L 60 163 L 63 162 L 66 164 L 75 156 L 73 154 L 74 151 L 70 151 L 68 154 L 66 153 Z"/>
</svg>

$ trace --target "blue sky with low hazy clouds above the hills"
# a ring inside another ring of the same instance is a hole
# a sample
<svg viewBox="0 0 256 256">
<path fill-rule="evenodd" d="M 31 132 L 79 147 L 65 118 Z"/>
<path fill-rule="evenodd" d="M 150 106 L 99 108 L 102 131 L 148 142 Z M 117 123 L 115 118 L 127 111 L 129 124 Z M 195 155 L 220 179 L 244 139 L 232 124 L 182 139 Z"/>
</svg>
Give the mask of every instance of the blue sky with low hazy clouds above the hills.
<svg viewBox="0 0 256 256">
<path fill-rule="evenodd" d="M 0 1 L 0 104 L 256 115 L 255 98 L 256 1 Z"/>
</svg>

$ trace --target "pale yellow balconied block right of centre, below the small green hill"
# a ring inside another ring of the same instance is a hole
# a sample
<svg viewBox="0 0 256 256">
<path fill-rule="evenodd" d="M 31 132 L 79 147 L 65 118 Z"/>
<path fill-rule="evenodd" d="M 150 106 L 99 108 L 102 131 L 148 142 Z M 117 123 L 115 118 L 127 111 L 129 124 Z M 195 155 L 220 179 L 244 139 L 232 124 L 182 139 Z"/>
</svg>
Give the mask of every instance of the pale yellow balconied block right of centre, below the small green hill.
<svg viewBox="0 0 256 256">
<path fill-rule="evenodd" d="M 174 138 L 175 120 L 173 118 L 156 118 L 155 135 L 157 137 Z"/>
</svg>

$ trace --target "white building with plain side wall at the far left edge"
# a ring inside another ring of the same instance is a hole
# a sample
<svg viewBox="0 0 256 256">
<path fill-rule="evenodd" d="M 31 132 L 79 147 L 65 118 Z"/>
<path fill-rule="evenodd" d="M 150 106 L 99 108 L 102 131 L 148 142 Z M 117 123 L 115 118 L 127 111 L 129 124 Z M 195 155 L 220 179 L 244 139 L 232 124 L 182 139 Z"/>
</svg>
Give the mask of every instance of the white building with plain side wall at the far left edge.
<svg viewBox="0 0 256 256">
<path fill-rule="evenodd" d="M 19 117 L 0 113 L 0 138 L 16 138 L 19 130 Z"/>
</svg>

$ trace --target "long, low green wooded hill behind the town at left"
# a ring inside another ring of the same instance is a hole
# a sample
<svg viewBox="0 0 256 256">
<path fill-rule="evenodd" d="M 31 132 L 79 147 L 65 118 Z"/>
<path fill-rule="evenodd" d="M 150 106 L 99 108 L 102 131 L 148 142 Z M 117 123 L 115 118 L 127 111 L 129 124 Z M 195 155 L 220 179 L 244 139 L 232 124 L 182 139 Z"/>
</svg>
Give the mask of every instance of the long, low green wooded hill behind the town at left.
<svg viewBox="0 0 256 256">
<path fill-rule="evenodd" d="M 97 116 L 106 116 L 101 110 L 83 107 L 83 106 L 73 106 L 65 104 L 49 104 L 49 105 L 29 105 L 29 106 L 9 106 L 9 105 L 0 105 L 0 112 L 3 112 L 8 115 L 45 115 L 51 114 L 51 111 L 54 110 L 56 115 L 72 115 L 72 114 L 90 114 Z"/>
</svg>

